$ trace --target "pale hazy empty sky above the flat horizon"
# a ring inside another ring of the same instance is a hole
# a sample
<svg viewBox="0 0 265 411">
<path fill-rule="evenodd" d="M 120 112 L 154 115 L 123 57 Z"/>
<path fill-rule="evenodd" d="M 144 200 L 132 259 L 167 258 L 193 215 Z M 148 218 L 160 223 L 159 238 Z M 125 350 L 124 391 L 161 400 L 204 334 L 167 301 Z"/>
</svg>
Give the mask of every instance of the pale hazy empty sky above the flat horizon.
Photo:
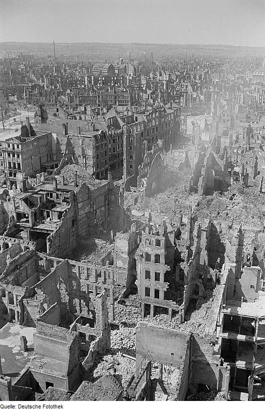
<svg viewBox="0 0 265 411">
<path fill-rule="evenodd" d="M 265 45 L 265 0 L 0 0 L 0 41 Z"/>
</svg>

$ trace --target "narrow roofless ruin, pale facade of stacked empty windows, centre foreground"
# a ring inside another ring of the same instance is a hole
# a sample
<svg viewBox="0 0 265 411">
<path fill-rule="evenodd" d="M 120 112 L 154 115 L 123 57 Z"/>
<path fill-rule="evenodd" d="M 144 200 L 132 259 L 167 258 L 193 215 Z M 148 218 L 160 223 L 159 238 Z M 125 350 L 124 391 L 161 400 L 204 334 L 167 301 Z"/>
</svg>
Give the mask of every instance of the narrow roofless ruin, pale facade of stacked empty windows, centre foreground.
<svg viewBox="0 0 265 411">
<path fill-rule="evenodd" d="M 199 277 L 201 227 L 192 219 L 183 224 L 182 217 L 179 225 L 161 223 L 155 224 L 149 217 L 135 254 L 141 315 L 153 318 L 166 312 L 169 319 L 177 316 L 181 323 L 191 296 L 203 290 Z"/>
</svg>

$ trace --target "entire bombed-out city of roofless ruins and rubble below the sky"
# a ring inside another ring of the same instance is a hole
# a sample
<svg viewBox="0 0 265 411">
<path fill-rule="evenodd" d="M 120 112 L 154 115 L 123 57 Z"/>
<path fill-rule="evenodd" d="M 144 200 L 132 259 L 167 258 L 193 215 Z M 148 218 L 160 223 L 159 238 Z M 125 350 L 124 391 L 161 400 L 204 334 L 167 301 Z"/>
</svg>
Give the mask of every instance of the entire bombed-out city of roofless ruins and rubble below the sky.
<svg viewBox="0 0 265 411">
<path fill-rule="evenodd" d="M 264 51 L 0 43 L 0 400 L 264 400 Z"/>
</svg>

